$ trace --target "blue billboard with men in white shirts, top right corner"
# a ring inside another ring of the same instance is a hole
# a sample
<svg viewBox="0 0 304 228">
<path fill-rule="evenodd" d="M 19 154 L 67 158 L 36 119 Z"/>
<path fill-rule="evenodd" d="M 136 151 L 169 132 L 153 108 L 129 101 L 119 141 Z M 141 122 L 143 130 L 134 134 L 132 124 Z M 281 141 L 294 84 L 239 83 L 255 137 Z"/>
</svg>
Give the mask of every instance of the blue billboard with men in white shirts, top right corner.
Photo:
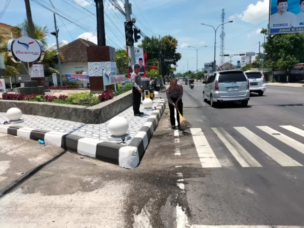
<svg viewBox="0 0 304 228">
<path fill-rule="evenodd" d="M 303 31 L 303 0 L 270 0 L 270 34 L 294 33 Z"/>
</svg>

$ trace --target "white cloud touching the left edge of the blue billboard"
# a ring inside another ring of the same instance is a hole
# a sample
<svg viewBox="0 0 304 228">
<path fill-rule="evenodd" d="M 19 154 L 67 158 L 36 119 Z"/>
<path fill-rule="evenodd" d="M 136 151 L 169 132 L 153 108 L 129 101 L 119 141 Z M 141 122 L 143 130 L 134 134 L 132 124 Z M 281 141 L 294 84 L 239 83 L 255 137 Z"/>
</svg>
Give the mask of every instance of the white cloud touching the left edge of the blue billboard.
<svg viewBox="0 0 304 228">
<path fill-rule="evenodd" d="M 243 13 L 235 14 L 229 17 L 229 20 L 240 18 L 242 21 L 250 23 L 258 23 L 265 20 L 269 15 L 269 0 L 258 1 L 255 5 L 250 4 Z"/>
</svg>

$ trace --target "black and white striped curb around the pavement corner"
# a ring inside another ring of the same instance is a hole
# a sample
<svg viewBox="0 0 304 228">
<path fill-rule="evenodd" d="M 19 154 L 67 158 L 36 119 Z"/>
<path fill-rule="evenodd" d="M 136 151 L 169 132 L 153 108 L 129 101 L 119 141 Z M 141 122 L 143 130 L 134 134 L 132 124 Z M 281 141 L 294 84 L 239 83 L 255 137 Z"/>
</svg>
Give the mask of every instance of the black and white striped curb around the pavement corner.
<svg viewBox="0 0 304 228">
<path fill-rule="evenodd" d="M 45 131 L 18 125 L 0 125 L 0 133 L 14 135 L 32 140 L 43 140 L 47 144 L 61 147 L 72 153 L 95 158 L 104 162 L 120 165 L 124 168 L 136 168 L 143 153 L 156 130 L 165 110 L 165 101 L 156 107 L 143 127 L 131 140 L 129 145 L 102 142 L 97 139 L 55 131 Z"/>
</svg>

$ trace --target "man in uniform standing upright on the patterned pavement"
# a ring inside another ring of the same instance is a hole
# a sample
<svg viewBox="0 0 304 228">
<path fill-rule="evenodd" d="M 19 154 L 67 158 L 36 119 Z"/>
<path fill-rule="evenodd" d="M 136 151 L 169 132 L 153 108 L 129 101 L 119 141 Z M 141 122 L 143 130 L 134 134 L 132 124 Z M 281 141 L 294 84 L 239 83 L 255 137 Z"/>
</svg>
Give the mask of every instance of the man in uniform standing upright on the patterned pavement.
<svg viewBox="0 0 304 228">
<path fill-rule="evenodd" d="M 140 66 L 138 64 L 134 65 L 134 71 L 131 74 L 132 80 L 132 92 L 133 92 L 133 111 L 135 117 L 140 117 L 143 115 L 143 112 L 139 111 L 141 93 L 142 93 L 142 82 L 139 76 Z"/>
</svg>

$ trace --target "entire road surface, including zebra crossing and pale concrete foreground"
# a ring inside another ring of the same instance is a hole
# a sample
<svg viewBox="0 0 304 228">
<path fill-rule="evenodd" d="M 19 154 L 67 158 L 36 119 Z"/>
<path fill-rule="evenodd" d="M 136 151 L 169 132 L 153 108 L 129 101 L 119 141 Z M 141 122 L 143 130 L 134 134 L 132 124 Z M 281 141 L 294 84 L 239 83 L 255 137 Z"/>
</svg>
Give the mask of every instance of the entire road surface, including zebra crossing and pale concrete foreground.
<svg viewBox="0 0 304 228">
<path fill-rule="evenodd" d="M 304 88 L 212 108 L 196 85 L 193 127 L 172 130 L 167 106 L 133 170 L 0 134 L 0 227 L 304 226 Z"/>
</svg>

